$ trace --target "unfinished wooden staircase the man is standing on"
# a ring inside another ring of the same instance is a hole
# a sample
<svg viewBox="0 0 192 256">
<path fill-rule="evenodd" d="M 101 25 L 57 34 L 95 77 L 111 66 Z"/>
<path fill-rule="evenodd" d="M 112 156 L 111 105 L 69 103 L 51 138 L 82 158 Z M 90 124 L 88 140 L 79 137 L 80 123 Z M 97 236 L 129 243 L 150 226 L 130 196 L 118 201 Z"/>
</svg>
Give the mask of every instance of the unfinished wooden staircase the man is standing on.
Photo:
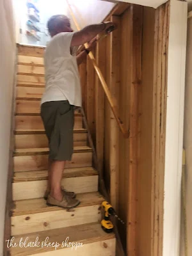
<svg viewBox="0 0 192 256">
<path fill-rule="evenodd" d="M 22 47 L 17 69 L 11 216 L 12 242 L 17 246 L 9 249 L 10 255 L 113 256 L 115 235 L 100 227 L 100 204 L 104 198 L 98 192 L 98 173 L 92 166 L 93 150 L 88 145 L 82 113 L 75 113 L 74 155 L 62 180 L 66 189 L 77 193 L 81 204 L 70 210 L 46 205 L 43 196 L 49 148 L 40 117 L 44 61 L 40 54 L 29 56 L 38 47 L 19 49 Z"/>
</svg>

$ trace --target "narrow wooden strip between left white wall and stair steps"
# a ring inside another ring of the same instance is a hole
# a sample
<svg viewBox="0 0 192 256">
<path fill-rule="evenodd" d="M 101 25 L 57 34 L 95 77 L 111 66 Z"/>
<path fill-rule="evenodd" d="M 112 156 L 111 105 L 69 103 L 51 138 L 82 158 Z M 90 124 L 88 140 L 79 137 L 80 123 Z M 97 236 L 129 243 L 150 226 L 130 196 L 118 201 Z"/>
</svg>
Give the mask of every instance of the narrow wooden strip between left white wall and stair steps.
<svg viewBox="0 0 192 256">
<path fill-rule="evenodd" d="M 16 47 L 16 46 L 15 46 Z M 13 197 L 12 197 L 12 178 L 13 178 L 13 152 L 15 149 L 14 143 L 14 130 L 15 130 L 15 108 L 16 108 L 16 84 L 17 84 L 17 47 L 15 52 L 15 72 L 13 75 L 13 94 L 12 94 L 12 113 L 11 113 L 11 125 L 10 125 L 10 154 L 8 163 L 8 179 L 6 186 L 6 206 L 4 217 L 4 247 L 3 255 L 10 255 L 10 250 L 7 248 L 6 240 L 11 237 L 11 214 L 13 209 Z"/>
</svg>

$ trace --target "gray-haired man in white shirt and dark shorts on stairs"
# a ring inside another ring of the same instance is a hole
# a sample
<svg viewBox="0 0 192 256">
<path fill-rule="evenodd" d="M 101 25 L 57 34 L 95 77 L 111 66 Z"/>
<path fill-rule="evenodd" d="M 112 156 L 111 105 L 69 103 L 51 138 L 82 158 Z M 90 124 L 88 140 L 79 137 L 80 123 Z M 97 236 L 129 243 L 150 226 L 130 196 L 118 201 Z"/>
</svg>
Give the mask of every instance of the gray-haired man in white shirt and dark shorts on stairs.
<svg viewBox="0 0 192 256">
<path fill-rule="evenodd" d="M 74 108 L 81 107 L 77 64 L 89 52 L 84 49 L 76 56 L 76 51 L 79 45 L 90 42 L 111 25 L 104 22 L 74 32 L 65 15 L 54 15 L 47 23 L 52 40 L 45 51 L 45 93 L 41 101 L 41 116 L 49 140 L 47 205 L 68 209 L 80 204 L 74 192 L 61 187 L 65 163 L 73 153 Z"/>
</svg>

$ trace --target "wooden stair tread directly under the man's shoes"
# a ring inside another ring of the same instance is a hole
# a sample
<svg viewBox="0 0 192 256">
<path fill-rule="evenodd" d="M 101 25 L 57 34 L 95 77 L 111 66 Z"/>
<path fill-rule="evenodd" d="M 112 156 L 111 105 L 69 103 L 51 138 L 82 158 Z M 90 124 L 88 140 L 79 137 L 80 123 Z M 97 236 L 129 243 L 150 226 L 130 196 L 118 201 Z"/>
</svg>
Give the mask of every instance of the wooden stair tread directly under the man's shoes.
<svg viewBox="0 0 192 256">
<path fill-rule="evenodd" d="M 77 207 L 86 207 L 92 205 L 100 205 L 104 198 L 99 192 L 89 192 L 77 194 L 77 199 L 81 201 Z M 61 207 L 48 206 L 44 198 L 26 199 L 14 201 L 15 209 L 12 211 L 12 216 L 20 216 L 26 214 L 35 214 L 39 212 L 50 211 L 74 211 L 62 209 Z"/>
</svg>

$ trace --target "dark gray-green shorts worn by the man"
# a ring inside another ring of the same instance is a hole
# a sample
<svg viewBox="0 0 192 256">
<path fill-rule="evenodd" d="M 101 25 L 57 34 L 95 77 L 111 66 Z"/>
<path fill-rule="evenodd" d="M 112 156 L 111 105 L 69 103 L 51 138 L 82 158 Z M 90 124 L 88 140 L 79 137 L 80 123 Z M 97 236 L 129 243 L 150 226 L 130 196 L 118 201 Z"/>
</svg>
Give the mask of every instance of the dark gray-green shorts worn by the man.
<svg viewBox="0 0 192 256">
<path fill-rule="evenodd" d="M 71 161 L 74 151 L 74 106 L 68 100 L 44 102 L 41 117 L 49 141 L 49 159 Z"/>
</svg>

